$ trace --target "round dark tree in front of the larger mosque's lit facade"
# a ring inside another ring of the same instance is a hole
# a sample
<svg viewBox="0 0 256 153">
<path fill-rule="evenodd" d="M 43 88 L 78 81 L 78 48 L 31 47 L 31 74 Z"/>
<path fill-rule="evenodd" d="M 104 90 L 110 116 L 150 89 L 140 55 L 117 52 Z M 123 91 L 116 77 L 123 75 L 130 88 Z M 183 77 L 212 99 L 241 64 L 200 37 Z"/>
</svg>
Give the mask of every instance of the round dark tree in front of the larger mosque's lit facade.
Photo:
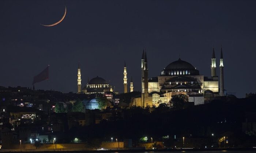
<svg viewBox="0 0 256 153">
<path fill-rule="evenodd" d="M 171 107 L 176 109 L 182 109 L 185 102 L 188 102 L 188 96 L 185 94 L 177 94 L 174 95 L 169 102 Z"/>
</svg>

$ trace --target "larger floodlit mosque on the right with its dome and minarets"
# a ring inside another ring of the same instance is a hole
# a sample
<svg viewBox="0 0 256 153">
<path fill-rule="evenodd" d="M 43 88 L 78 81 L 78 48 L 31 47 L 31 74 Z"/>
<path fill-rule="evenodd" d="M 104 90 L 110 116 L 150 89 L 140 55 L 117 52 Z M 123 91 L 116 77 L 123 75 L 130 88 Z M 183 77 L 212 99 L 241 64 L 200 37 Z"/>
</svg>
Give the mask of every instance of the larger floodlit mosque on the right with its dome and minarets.
<svg viewBox="0 0 256 153">
<path fill-rule="evenodd" d="M 131 105 L 146 107 L 158 106 L 169 102 L 174 95 L 186 94 L 189 102 L 195 105 L 204 104 L 216 96 L 224 96 L 223 55 L 220 58 L 220 90 L 219 77 L 216 76 L 216 58 L 213 48 L 211 58 L 211 77 L 199 73 L 191 63 L 181 60 L 168 64 L 157 77 L 148 79 L 147 53 L 143 50 L 141 59 L 142 95 L 132 99 Z"/>
</svg>

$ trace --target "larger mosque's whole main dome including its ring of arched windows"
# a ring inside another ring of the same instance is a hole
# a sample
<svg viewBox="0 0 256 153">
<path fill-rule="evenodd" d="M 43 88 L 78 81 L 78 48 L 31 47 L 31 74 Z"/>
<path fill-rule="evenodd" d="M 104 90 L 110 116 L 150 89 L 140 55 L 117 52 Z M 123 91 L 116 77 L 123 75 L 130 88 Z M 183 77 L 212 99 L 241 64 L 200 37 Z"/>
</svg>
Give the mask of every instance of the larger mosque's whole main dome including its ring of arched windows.
<svg viewBox="0 0 256 153">
<path fill-rule="evenodd" d="M 199 75 L 196 68 L 180 58 L 165 67 L 161 71 L 161 76 Z"/>
</svg>

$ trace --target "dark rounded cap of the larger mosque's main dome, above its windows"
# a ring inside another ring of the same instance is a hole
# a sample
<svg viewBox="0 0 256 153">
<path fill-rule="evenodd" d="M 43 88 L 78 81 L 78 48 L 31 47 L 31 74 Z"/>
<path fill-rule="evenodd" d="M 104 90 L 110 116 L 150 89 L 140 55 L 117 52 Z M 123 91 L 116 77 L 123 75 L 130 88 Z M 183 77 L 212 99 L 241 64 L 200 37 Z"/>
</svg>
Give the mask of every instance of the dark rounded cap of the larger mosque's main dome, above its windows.
<svg viewBox="0 0 256 153">
<path fill-rule="evenodd" d="M 165 67 L 165 69 L 173 69 L 173 70 L 195 70 L 192 64 L 181 60 L 180 58 Z"/>
</svg>

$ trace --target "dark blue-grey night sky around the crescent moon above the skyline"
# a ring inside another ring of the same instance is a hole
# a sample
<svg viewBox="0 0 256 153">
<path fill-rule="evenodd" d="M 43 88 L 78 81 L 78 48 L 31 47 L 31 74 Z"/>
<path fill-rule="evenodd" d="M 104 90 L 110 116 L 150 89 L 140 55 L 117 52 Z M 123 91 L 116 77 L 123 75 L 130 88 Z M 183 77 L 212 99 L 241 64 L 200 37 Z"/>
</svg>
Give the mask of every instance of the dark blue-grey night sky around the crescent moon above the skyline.
<svg viewBox="0 0 256 153">
<path fill-rule="evenodd" d="M 65 6 L 65 19 L 61 19 Z M 49 81 L 35 89 L 77 92 L 97 75 L 123 92 L 127 64 L 135 90 L 141 89 L 140 59 L 147 50 L 149 77 L 169 63 L 191 63 L 210 76 L 212 47 L 217 74 L 221 44 L 225 89 L 255 93 L 256 1 L 0 1 L 0 86 L 32 87 L 49 67 Z M 128 88 L 129 89 L 129 88 Z"/>
</svg>

